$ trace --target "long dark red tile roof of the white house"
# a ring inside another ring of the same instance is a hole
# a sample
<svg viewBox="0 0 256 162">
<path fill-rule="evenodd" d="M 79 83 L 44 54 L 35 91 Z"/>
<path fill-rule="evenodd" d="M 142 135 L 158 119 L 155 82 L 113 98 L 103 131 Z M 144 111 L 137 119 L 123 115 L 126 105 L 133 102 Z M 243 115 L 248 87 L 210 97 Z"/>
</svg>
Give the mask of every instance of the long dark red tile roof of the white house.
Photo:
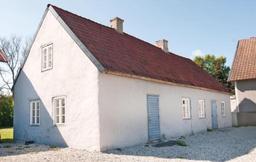
<svg viewBox="0 0 256 162">
<path fill-rule="evenodd" d="M 52 6 L 105 70 L 229 92 L 190 59 Z"/>
</svg>

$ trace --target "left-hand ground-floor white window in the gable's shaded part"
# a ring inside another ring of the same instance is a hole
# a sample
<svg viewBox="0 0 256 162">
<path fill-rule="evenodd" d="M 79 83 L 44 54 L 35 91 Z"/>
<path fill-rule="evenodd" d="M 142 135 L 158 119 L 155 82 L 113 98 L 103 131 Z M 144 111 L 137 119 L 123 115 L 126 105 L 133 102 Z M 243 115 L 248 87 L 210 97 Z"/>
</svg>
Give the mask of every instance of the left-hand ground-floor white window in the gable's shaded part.
<svg viewBox="0 0 256 162">
<path fill-rule="evenodd" d="M 30 102 L 30 125 L 40 125 L 40 101 Z"/>
</svg>

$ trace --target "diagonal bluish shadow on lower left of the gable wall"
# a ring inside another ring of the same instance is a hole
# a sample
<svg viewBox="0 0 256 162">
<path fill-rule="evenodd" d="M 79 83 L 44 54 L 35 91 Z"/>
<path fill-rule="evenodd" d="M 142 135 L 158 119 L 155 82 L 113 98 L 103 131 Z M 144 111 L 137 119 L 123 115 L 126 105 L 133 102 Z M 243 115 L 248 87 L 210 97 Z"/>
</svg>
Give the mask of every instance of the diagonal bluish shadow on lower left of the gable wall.
<svg viewBox="0 0 256 162">
<path fill-rule="evenodd" d="M 14 140 L 67 147 L 68 145 L 59 130 L 60 127 L 53 126 L 52 114 L 48 112 L 53 110 L 52 106 L 46 109 L 44 101 L 40 99 L 24 71 L 20 72 L 19 77 L 20 80 L 18 80 L 19 83 L 16 84 L 14 92 Z M 40 126 L 30 126 L 31 100 L 40 100 Z M 52 99 L 47 101 L 51 102 L 47 105 L 52 105 Z"/>
</svg>

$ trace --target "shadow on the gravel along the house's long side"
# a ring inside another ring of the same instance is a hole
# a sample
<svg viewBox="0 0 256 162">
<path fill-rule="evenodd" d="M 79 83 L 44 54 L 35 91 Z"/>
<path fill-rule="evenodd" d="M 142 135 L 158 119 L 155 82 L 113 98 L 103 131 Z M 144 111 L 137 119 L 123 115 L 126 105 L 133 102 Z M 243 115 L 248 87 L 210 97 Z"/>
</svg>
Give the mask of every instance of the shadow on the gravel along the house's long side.
<svg viewBox="0 0 256 162">
<path fill-rule="evenodd" d="M 159 158 L 182 158 L 189 160 L 226 161 L 248 154 L 256 147 L 256 127 L 238 127 L 186 136 L 188 145 L 175 142 L 159 143 L 157 146 L 140 145 L 105 151 L 106 154 L 153 156 Z"/>
</svg>

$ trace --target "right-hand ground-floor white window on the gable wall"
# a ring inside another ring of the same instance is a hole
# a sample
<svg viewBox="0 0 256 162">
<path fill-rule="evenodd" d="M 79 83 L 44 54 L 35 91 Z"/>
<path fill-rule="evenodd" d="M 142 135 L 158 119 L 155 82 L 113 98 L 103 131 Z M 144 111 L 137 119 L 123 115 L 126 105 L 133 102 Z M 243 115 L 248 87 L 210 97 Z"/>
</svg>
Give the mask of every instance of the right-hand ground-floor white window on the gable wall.
<svg viewBox="0 0 256 162">
<path fill-rule="evenodd" d="M 66 97 L 53 98 L 54 125 L 65 125 L 66 123 Z"/>
</svg>

